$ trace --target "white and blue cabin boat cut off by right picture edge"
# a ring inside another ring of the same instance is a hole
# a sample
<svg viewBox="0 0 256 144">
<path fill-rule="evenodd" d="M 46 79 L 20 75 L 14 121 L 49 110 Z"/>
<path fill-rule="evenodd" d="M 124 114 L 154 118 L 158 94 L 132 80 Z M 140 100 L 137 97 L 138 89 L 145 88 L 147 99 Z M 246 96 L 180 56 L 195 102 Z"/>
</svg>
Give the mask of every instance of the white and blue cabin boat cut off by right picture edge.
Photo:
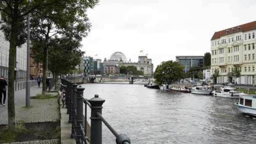
<svg viewBox="0 0 256 144">
<path fill-rule="evenodd" d="M 256 116 L 256 95 L 239 96 L 240 99 L 235 106 L 241 112 Z"/>
</svg>

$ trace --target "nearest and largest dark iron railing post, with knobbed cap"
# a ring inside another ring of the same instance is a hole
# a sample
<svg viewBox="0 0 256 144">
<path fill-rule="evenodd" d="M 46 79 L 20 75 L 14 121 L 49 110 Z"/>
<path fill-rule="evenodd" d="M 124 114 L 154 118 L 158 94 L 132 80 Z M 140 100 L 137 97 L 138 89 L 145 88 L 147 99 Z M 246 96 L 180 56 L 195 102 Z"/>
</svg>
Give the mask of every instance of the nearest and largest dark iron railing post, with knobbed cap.
<svg viewBox="0 0 256 144">
<path fill-rule="evenodd" d="M 96 112 L 101 114 L 105 100 L 95 94 L 94 98 L 89 99 L 88 102 L 91 104 L 91 144 L 102 144 L 102 122 Z"/>
</svg>

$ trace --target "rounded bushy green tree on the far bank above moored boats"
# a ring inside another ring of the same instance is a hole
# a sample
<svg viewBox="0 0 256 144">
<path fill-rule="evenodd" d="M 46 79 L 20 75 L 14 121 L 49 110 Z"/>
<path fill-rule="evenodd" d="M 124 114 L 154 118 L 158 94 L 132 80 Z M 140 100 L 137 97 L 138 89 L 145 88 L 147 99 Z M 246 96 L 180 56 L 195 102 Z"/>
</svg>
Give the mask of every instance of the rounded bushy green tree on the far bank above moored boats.
<svg viewBox="0 0 256 144">
<path fill-rule="evenodd" d="M 177 61 L 163 61 L 157 66 L 154 78 L 160 83 L 172 83 L 184 78 L 183 66 Z"/>
</svg>

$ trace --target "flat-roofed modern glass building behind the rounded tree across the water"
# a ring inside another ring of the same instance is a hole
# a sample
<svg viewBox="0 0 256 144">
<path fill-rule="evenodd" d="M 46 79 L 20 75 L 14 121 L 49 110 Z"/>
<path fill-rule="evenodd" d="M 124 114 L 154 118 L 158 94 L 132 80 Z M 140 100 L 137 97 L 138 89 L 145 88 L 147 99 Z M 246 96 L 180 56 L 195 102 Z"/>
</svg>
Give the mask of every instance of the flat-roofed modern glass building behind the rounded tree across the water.
<svg viewBox="0 0 256 144">
<path fill-rule="evenodd" d="M 190 67 L 203 67 L 204 56 L 176 56 L 176 61 L 184 66 L 183 71 L 186 73 Z"/>
</svg>

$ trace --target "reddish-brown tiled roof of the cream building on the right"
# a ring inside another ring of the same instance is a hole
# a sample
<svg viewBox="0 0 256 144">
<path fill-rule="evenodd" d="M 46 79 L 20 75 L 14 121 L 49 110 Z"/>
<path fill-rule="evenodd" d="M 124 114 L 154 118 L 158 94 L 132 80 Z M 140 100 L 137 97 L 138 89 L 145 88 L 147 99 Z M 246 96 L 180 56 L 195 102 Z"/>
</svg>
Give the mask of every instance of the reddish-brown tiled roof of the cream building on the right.
<svg viewBox="0 0 256 144">
<path fill-rule="evenodd" d="M 237 31 L 237 27 L 240 27 L 239 31 Z M 232 29 L 234 29 L 234 32 L 232 32 Z M 228 28 L 228 29 L 221 30 L 219 32 L 215 32 L 213 34 L 213 37 L 211 38 L 211 40 L 217 39 L 217 38 L 219 38 L 221 36 L 224 36 L 224 35 L 229 35 L 231 33 L 246 32 L 246 31 L 249 31 L 249 30 L 252 30 L 252 29 L 256 29 L 256 21 L 252 21 L 252 22 L 249 22 L 249 23 L 246 23 L 246 24 L 241 24 L 239 26 L 235 26 L 235 27 L 231 27 L 231 28 Z M 229 30 L 229 32 L 227 34 L 226 34 L 226 30 Z"/>
</svg>

